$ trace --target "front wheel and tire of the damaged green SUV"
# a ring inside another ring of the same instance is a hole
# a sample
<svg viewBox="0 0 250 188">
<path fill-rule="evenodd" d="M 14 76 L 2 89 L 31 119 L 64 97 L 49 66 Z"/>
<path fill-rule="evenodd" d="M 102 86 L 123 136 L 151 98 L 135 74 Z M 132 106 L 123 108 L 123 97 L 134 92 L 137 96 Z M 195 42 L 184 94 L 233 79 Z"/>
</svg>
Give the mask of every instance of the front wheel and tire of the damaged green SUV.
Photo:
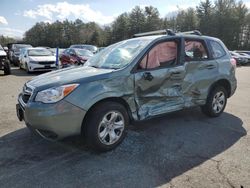
<svg viewBox="0 0 250 188">
<path fill-rule="evenodd" d="M 116 102 L 98 104 L 88 115 L 83 130 L 87 144 L 96 151 L 114 149 L 125 138 L 128 123 L 128 113 L 123 105 Z"/>
</svg>

